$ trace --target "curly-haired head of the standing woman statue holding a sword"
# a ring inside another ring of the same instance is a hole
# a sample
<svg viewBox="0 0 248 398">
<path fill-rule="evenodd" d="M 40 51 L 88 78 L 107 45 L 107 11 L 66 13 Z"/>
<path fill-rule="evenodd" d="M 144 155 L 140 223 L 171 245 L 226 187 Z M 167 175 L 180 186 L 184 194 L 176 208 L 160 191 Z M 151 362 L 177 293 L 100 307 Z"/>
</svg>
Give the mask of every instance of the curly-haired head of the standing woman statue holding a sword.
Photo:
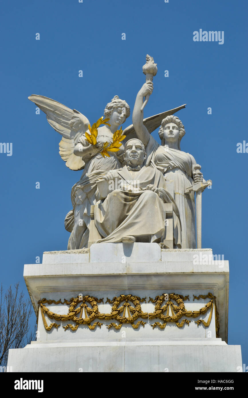
<svg viewBox="0 0 248 398">
<path fill-rule="evenodd" d="M 169 142 L 178 142 L 178 149 L 180 150 L 180 142 L 184 137 L 185 130 L 181 120 L 174 115 L 167 116 L 162 120 L 158 135 L 161 139 L 161 145 Z"/>
</svg>

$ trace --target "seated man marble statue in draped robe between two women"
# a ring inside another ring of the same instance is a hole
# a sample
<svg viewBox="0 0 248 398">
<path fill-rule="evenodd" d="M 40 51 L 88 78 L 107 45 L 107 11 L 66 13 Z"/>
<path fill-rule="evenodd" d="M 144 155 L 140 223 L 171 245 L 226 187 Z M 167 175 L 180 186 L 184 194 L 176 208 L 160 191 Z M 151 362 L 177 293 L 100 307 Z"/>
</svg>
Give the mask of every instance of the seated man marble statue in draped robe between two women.
<svg viewBox="0 0 248 398">
<path fill-rule="evenodd" d="M 174 247 L 181 247 L 181 228 L 178 207 L 166 191 L 163 174 L 156 168 L 143 166 L 145 146 L 139 139 L 128 140 L 124 148 L 126 166 L 111 170 L 103 177 L 105 185 L 115 181 L 115 189 L 96 191 L 101 197 L 94 208 L 96 228 L 101 242 L 163 242 L 165 210 L 163 203 L 173 204 Z M 103 182 L 103 181 L 102 181 Z M 118 182 L 118 189 L 116 187 Z M 103 185 L 104 185 L 103 183 Z"/>
</svg>

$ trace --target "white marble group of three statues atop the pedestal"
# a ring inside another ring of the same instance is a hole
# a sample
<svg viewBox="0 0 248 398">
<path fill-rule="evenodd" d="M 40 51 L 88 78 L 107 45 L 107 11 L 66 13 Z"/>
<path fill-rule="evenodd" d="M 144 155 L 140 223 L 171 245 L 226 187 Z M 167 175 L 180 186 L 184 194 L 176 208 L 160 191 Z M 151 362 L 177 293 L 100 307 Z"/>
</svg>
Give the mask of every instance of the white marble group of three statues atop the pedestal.
<svg viewBox="0 0 248 398">
<path fill-rule="evenodd" d="M 210 180 L 203 179 L 194 157 L 180 149 L 185 130 L 174 113 L 185 105 L 144 119 L 156 71 L 147 55 L 146 82 L 137 94 L 133 124 L 123 131 L 120 126 L 129 117 L 130 107 L 118 96 L 107 103 L 105 119 L 92 126 L 75 109 L 47 97 L 29 97 L 62 135 L 59 153 L 66 166 L 83 170 L 72 187 L 73 208 L 65 218 L 68 250 L 101 242 L 195 248 L 195 192 L 197 246 L 201 247 L 201 192 Z M 159 126 L 161 144 L 150 134 Z"/>
</svg>

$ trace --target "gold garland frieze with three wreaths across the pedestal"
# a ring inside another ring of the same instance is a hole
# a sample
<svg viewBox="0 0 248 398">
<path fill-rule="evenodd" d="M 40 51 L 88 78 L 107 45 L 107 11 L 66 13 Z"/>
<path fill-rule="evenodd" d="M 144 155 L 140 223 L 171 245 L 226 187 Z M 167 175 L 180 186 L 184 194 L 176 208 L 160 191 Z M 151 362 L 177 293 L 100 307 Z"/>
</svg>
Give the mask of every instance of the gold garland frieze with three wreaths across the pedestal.
<svg viewBox="0 0 248 398">
<path fill-rule="evenodd" d="M 199 298 L 209 298 L 210 301 L 205 304 L 204 307 L 200 308 L 196 311 L 186 310 L 184 301 L 189 300 L 189 296 L 177 295 L 175 293 L 166 294 L 164 293 L 161 296 L 156 296 L 155 298 L 149 297 L 148 302 L 155 303 L 154 312 L 143 312 L 141 309 L 141 303 L 146 302 L 146 297 L 141 298 L 138 296 L 129 295 L 120 295 L 119 297 L 113 297 L 112 300 L 109 298 L 106 299 L 106 303 L 112 304 L 111 312 L 100 313 L 98 309 L 98 304 L 103 303 L 103 298 L 96 298 L 93 296 L 81 296 L 72 297 L 70 300 L 64 299 L 61 301 L 55 300 L 47 300 L 46 298 L 42 298 L 39 300 L 38 304 L 41 309 L 41 316 L 43 319 L 43 324 L 47 331 L 52 328 L 58 328 L 60 324 L 56 322 L 51 323 L 49 326 L 45 320 L 45 314 L 48 318 L 56 321 L 66 322 L 73 321 L 75 325 L 68 323 L 66 326 L 63 326 L 64 330 L 70 328 L 71 330 L 77 330 L 79 325 L 87 325 L 89 329 L 94 330 L 96 326 L 101 328 L 102 323 L 98 320 L 116 320 L 119 322 L 116 324 L 115 322 L 111 322 L 107 325 L 108 329 L 115 328 L 121 329 L 123 324 L 131 324 L 134 329 L 137 329 L 140 325 L 145 326 L 146 322 L 139 320 L 138 318 L 153 320 L 158 318 L 162 322 L 154 322 L 151 324 L 152 329 L 159 327 L 160 329 L 164 329 L 166 324 L 174 323 L 178 328 L 182 328 L 186 323 L 189 325 L 191 320 L 187 318 L 197 318 L 198 316 L 205 315 L 209 311 L 209 318 L 207 322 L 202 319 L 195 321 L 197 326 L 203 325 L 205 328 L 209 327 L 213 309 L 215 308 L 215 329 L 216 329 L 216 337 L 219 337 L 219 314 L 216 307 L 216 297 L 211 293 L 207 295 L 199 295 L 198 297 L 193 295 L 193 301 L 199 300 Z M 176 304 L 175 304 L 176 303 Z M 69 305 L 67 314 L 55 314 L 45 306 L 45 304 L 67 304 Z M 186 318 L 184 318 L 186 317 Z M 183 319 L 182 319 L 183 318 Z M 94 322 L 96 321 L 96 322 Z M 92 323 L 94 322 L 94 323 Z"/>
</svg>

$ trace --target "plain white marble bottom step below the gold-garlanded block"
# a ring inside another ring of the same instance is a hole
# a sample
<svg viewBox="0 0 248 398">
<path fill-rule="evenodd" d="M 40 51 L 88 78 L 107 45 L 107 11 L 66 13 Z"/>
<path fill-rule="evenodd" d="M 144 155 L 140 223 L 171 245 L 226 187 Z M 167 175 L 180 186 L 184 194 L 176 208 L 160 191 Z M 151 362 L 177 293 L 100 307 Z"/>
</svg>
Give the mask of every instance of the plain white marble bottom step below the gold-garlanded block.
<svg viewBox="0 0 248 398">
<path fill-rule="evenodd" d="M 9 351 L 13 372 L 237 372 L 240 345 L 206 341 L 31 343 Z"/>
</svg>

